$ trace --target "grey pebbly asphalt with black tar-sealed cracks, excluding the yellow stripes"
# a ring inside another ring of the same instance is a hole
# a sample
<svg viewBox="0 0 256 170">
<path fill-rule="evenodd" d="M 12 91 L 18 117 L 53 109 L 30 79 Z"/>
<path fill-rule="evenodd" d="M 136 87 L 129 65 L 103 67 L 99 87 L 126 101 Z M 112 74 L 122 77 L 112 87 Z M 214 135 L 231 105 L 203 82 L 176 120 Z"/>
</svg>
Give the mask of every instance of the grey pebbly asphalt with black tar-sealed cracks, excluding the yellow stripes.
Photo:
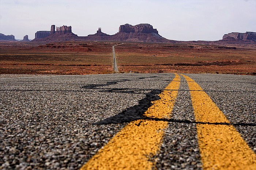
<svg viewBox="0 0 256 170">
<path fill-rule="evenodd" d="M 256 152 L 256 77 L 185 75 Z M 0 75 L 0 169 L 80 169 L 129 122 L 142 118 L 174 76 Z M 151 158 L 155 168 L 202 169 L 191 96 L 182 76 L 168 122 L 160 150 Z"/>
</svg>

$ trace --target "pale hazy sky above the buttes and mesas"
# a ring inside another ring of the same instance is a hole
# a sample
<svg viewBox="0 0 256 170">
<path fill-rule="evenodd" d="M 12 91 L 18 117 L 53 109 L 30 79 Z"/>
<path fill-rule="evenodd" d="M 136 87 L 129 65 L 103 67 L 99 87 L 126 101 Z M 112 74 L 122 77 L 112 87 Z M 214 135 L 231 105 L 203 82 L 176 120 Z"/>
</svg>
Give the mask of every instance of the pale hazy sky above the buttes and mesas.
<svg viewBox="0 0 256 170">
<path fill-rule="evenodd" d="M 219 40 L 256 32 L 256 0 L 0 0 L 0 33 L 34 39 L 51 25 L 78 36 L 113 35 L 123 24 L 148 23 L 171 40 Z"/>
</svg>

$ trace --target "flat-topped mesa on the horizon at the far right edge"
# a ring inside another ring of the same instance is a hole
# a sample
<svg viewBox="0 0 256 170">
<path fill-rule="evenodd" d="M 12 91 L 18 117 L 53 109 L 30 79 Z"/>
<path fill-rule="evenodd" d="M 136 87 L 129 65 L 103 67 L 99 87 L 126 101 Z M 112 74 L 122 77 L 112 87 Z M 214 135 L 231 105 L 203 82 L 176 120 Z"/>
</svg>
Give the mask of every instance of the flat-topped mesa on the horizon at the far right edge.
<svg viewBox="0 0 256 170">
<path fill-rule="evenodd" d="M 222 40 L 253 40 L 256 41 L 256 32 L 231 32 L 224 34 Z"/>
</svg>

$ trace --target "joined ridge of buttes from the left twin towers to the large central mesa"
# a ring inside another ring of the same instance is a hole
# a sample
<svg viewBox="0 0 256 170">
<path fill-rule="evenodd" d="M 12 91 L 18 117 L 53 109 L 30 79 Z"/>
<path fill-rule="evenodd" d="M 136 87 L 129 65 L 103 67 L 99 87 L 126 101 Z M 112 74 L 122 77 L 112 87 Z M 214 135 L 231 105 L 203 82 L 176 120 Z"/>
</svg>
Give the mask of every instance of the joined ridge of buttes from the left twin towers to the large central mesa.
<svg viewBox="0 0 256 170">
<path fill-rule="evenodd" d="M 173 40 L 168 40 L 158 34 L 157 29 L 154 29 L 150 24 L 138 25 L 120 25 L 119 32 L 114 35 L 108 35 L 101 31 L 101 28 L 95 34 L 88 36 L 77 36 L 72 33 L 71 26 L 57 27 L 51 26 L 50 34 L 44 39 L 35 38 L 33 41 L 128 41 L 128 42 L 152 42 L 152 43 L 171 43 Z"/>
</svg>

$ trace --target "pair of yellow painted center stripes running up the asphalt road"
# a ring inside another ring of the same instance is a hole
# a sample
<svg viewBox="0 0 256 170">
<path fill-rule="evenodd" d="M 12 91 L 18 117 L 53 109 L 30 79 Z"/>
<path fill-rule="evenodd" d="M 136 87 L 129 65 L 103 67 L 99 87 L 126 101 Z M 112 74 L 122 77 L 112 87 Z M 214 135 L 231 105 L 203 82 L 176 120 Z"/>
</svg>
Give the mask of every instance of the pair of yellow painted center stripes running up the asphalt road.
<svg viewBox="0 0 256 170">
<path fill-rule="evenodd" d="M 198 122 L 229 123 L 203 89 L 188 76 L 189 90 Z M 171 118 L 180 87 L 180 76 L 159 94 L 160 99 L 144 112 L 150 118 Z M 152 169 L 152 157 L 159 151 L 168 122 L 135 120 L 118 132 L 81 170 Z M 256 155 L 232 125 L 197 124 L 204 169 L 253 169 Z"/>
</svg>

